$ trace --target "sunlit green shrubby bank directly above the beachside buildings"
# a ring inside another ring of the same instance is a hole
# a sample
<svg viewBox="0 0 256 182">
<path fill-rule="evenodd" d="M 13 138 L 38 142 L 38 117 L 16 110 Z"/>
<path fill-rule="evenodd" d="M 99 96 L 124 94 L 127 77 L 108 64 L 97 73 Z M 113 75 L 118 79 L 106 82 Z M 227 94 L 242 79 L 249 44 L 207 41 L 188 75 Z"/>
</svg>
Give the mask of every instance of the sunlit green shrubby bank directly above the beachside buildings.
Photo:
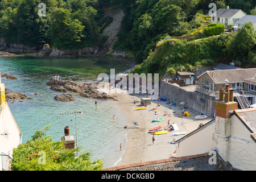
<svg viewBox="0 0 256 182">
<path fill-rule="evenodd" d="M 160 77 L 167 72 L 171 76 L 177 71 L 195 71 L 201 66 L 214 65 L 225 57 L 239 60 L 242 65 L 255 64 L 255 56 L 250 52 L 255 48 L 255 38 L 253 23 L 247 22 L 237 33 L 192 41 L 163 39 L 133 72 L 160 73 Z"/>
</svg>

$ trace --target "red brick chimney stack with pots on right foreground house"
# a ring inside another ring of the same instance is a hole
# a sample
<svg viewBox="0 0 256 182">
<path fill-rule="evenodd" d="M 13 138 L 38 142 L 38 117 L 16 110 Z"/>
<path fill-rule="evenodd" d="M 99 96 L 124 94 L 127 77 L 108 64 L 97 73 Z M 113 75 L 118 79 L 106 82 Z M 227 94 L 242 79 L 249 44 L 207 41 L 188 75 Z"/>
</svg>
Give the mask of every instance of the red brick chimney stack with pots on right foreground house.
<svg viewBox="0 0 256 182">
<path fill-rule="evenodd" d="M 220 90 L 220 99 L 215 102 L 215 115 L 228 119 L 231 117 L 230 111 L 236 110 L 238 103 L 234 102 L 234 90 L 229 88 L 229 84 L 225 85 L 225 90 Z"/>
</svg>

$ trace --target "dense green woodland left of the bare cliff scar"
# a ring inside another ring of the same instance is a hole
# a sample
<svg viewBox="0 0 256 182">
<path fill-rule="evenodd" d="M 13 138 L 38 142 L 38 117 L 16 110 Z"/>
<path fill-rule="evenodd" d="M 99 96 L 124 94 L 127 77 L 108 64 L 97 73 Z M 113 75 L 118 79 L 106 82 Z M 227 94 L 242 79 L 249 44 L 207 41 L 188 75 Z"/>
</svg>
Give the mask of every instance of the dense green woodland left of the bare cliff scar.
<svg viewBox="0 0 256 182">
<path fill-rule="evenodd" d="M 46 16 L 38 15 L 39 3 L 46 5 Z M 100 6 L 90 0 L 2 0 L 0 37 L 7 43 L 38 47 L 48 43 L 60 49 L 101 46 L 106 23 L 101 22 Z"/>
</svg>

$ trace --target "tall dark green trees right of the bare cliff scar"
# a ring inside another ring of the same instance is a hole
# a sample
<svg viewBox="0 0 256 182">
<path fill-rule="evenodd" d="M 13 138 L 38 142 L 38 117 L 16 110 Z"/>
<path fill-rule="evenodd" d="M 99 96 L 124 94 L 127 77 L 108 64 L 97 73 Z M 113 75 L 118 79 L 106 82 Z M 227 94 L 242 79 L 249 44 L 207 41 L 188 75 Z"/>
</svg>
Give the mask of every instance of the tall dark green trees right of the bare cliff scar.
<svg viewBox="0 0 256 182">
<path fill-rule="evenodd" d="M 181 36 L 191 34 L 193 30 L 196 31 L 195 29 L 200 31 L 199 27 L 203 22 L 199 12 L 204 14 L 205 10 L 210 9 L 209 4 L 213 1 L 121 0 L 120 2 L 126 14 L 114 47 L 134 51 L 135 59 L 139 64 L 147 59 L 148 54 L 154 51 L 156 44 L 166 37 L 166 34 Z M 256 6 L 256 1 L 251 0 L 218 0 L 214 3 L 217 9 L 229 5 L 230 9 L 241 9 L 247 14 L 253 14 Z M 213 32 L 212 35 L 217 33 Z"/>
</svg>

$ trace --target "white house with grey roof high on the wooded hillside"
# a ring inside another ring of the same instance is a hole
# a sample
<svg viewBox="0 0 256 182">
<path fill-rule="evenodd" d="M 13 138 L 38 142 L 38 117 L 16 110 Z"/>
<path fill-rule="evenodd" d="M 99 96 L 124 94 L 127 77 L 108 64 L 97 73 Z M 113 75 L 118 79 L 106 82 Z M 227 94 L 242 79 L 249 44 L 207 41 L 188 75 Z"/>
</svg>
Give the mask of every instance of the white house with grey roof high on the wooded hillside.
<svg viewBox="0 0 256 182">
<path fill-rule="evenodd" d="M 210 15 L 210 23 L 223 23 L 226 27 L 229 25 L 233 26 L 236 20 L 241 19 L 245 15 L 246 13 L 242 10 L 229 9 L 228 6 L 227 9 L 218 9 L 215 13 Z"/>
</svg>

